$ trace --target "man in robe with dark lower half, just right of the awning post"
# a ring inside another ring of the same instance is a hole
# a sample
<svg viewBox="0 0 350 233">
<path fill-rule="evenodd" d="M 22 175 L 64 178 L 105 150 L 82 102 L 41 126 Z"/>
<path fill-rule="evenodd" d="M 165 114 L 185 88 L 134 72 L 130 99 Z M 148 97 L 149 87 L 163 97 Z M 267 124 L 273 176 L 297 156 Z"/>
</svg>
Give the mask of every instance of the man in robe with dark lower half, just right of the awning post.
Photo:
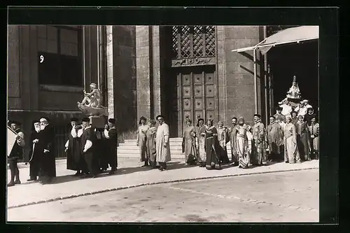
<svg viewBox="0 0 350 233">
<path fill-rule="evenodd" d="M 283 160 L 281 153 L 283 151 L 283 129 L 276 118 L 272 115 L 269 117 L 267 126 L 267 142 L 269 145 L 269 155 L 272 160 Z"/>
</svg>

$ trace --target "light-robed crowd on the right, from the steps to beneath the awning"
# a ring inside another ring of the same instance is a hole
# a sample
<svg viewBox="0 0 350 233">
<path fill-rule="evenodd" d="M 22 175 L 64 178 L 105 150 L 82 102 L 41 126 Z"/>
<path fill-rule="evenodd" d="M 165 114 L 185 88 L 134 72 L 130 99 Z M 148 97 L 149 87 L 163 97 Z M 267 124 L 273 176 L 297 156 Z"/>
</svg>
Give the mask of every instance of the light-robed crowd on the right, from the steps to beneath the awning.
<svg viewBox="0 0 350 233">
<path fill-rule="evenodd" d="M 205 122 L 202 118 L 197 119 L 197 127 L 194 127 L 192 120 L 186 119 L 182 142 L 186 163 L 206 169 L 221 169 L 221 164 L 245 169 L 269 161 L 293 164 L 318 160 L 319 125 L 314 108 L 307 100 L 300 101 L 295 108 L 288 99 L 279 104 L 276 114 L 269 117 L 267 127 L 259 114 L 253 115 L 253 126 L 246 124 L 242 117 L 233 117 L 231 127 L 224 126 L 221 121 L 215 126 L 213 120 Z M 166 162 L 171 160 L 169 126 L 162 115 L 157 120 L 160 122 L 158 129 L 155 120 L 147 122 L 146 118 L 140 118 L 137 146 L 144 167 L 163 171 Z M 229 142 L 231 159 L 227 150 Z"/>
</svg>

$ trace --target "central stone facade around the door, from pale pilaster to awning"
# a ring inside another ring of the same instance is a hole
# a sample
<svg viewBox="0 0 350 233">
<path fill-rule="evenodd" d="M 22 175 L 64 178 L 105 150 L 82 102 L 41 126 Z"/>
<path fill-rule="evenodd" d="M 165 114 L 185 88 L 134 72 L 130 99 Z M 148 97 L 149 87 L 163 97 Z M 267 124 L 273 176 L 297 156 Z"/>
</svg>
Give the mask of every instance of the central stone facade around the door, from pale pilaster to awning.
<svg viewBox="0 0 350 233">
<path fill-rule="evenodd" d="M 252 52 L 232 52 L 262 40 L 260 26 L 137 26 L 137 115 L 167 118 L 171 136 L 181 136 L 186 118 L 230 125 L 233 116 L 251 122 L 255 112 Z M 258 56 L 258 77 L 263 76 Z M 263 90 L 258 85 L 258 113 Z"/>
</svg>

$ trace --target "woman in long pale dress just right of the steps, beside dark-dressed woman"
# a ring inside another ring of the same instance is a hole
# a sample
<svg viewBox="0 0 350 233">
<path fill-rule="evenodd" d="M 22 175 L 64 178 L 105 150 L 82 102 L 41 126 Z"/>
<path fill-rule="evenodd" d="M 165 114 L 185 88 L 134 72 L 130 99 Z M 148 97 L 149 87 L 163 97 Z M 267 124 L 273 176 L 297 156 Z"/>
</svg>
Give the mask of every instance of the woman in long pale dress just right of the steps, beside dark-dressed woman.
<svg viewBox="0 0 350 233">
<path fill-rule="evenodd" d="M 185 153 L 185 160 L 188 165 L 195 165 L 196 153 L 195 148 L 195 127 L 192 126 L 192 120 L 186 121 L 187 127 L 183 131 L 182 152 Z"/>
</svg>

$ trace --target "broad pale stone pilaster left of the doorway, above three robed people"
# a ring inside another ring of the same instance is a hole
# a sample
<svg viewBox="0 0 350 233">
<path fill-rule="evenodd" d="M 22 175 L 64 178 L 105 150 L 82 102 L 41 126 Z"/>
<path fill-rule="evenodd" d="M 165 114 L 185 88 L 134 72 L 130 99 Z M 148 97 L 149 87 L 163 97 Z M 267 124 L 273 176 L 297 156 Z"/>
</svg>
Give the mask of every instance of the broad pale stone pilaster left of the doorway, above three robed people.
<svg viewBox="0 0 350 233">
<path fill-rule="evenodd" d="M 151 118 L 149 27 L 136 27 L 137 118 Z"/>
</svg>

